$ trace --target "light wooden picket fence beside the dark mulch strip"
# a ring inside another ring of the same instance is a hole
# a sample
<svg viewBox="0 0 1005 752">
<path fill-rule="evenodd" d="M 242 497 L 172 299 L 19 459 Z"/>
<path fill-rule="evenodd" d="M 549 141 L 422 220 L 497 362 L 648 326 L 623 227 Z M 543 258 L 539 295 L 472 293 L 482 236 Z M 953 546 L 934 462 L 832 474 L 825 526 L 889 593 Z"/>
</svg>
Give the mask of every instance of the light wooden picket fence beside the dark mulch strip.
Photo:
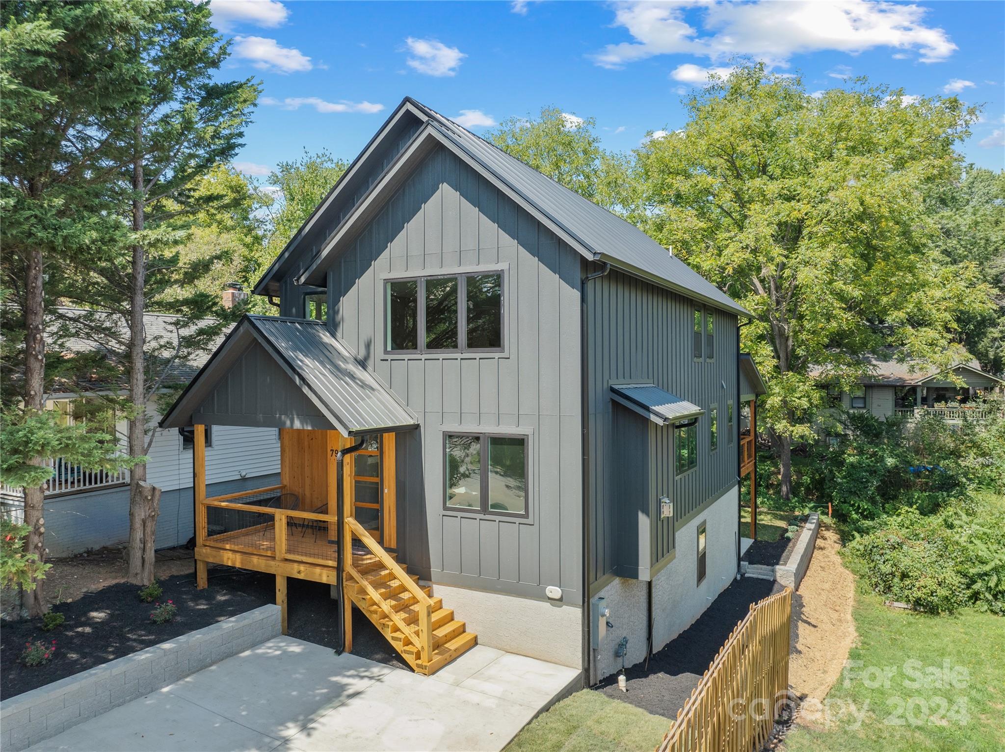
<svg viewBox="0 0 1005 752">
<path fill-rule="evenodd" d="M 753 752 L 789 700 L 792 590 L 751 605 L 709 665 L 657 752 Z"/>
</svg>

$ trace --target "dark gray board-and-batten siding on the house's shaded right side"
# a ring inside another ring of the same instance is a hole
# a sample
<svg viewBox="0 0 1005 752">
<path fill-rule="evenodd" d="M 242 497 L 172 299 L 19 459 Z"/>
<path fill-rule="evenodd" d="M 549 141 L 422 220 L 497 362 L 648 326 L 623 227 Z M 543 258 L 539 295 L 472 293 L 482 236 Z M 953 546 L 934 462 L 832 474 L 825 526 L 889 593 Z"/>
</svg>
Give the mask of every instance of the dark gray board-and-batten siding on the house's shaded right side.
<svg viewBox="0 0 1005 752">
<path fill-rule="evenodd" d="M 649 557 L 633 559 L 632 553 L 640 553 L 638 549 L 644 546 L 619 539 L 626 514 L 655 515 L 656 500 L 667 496 L 673 503 L 676 530 L 737 483 L 738 406 L 734 405 L 732 443 L 727 433 L 727 411 L 729 403 L 737 399 L 738 332 L 736 315 L 706 307 L 715 315 L 715 357 L 696 360 L 691 337 L 692 300 L 616 270 L 588 282 L 586 295 L 588 574 L 593 589 L 598 589 L 601 580 L 608 581 L 619 572 L 643 570 L 646 561 L 651 567 L 671 552 L 667 547 L 673 545 L 669 523 L 657 517 L 652 525 Z M 641 417 L 638 422 L 630 421 L 628 416 L 634 414 L 611 400 L 612 385 L 640 383 L 654 384 L 706 411 L 697 419 L 697 467 L 680 477 L 673 473 L 672 426 L 657 427 Z M 719 410 L 719 448 L 715 452 L 710 450 L 712 406 Z M 615 411 L 624 414 L 623 419 L 618 417 L 618 433 Z M 645 433 L 646 442 L 636 439 L 638 447 L 633 452 L 609 450 L 623 439 L 624 431 L 620 429 L 635 423 L 637 431 Z M 644 454 L 643 448 L 647 449 Z M 640 481 L 640 476 L 649 480 Z M 645 503 L 634 499 L 632 483 L 644 484 L 651 498 Z"/>
</svg>

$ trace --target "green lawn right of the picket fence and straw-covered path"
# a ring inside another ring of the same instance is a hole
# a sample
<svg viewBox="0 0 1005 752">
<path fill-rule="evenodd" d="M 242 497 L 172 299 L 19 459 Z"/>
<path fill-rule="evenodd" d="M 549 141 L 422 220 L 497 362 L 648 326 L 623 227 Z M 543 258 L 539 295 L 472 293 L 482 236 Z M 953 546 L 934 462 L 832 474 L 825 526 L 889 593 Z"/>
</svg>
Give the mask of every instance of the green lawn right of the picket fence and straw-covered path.
<svg viewBox="0 0 1005 752">
<path fill-rule="evenodd" d="M 1005 749 L 1005 618 L 923 615 L 861 592 L 854 618 L 859 647 L 848 659 L 861 665 L 827 696 L 826 730 L 794 729 L 788 752 Z"/>
</svg>

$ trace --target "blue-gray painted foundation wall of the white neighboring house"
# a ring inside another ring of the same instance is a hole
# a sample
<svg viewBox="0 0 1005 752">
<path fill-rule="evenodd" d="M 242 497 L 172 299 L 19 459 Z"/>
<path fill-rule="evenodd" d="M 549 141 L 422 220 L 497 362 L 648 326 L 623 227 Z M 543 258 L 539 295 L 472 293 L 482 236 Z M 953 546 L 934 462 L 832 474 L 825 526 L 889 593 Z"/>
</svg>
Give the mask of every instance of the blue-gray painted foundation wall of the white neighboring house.
<svg viewBox="0 0 1005 752">
<path fill-rule="evenodd" d="M 211 483 L 209 496 L 262 488 L 279 483 L 278 473 Z M 5 504 L 20 516 L 21 502 Z M 125 543 L 129 540 L 129 486 L 45 500 L 45 547 L 49 556 L 72 556 L 88 548 Z M 192 537 L 192 487 L 161 494 L 157 518 L 157 547 L 184 545 Z"/>
</svg>

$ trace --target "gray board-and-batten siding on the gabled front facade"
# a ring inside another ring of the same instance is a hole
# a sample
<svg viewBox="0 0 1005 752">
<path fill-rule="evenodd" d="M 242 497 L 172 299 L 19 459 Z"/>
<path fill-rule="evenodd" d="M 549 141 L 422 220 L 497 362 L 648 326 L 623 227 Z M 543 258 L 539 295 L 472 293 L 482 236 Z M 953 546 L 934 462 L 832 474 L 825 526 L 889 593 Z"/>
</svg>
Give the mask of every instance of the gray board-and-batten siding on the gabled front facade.
<svg viewBox="0 0 1005 752">
<path fill-rule="evenodd" d="M 500 352 L 385 353 L 388 279 L 498 270 Z M 328 325 L 408 409 L 398 550 L 434 582 L 582 602 L 580 255 L 472 168 L 433 151 L 328 271 Z M 443 509 L 443 435 L 528 437 L 526 518 Z"/>
</svg>

